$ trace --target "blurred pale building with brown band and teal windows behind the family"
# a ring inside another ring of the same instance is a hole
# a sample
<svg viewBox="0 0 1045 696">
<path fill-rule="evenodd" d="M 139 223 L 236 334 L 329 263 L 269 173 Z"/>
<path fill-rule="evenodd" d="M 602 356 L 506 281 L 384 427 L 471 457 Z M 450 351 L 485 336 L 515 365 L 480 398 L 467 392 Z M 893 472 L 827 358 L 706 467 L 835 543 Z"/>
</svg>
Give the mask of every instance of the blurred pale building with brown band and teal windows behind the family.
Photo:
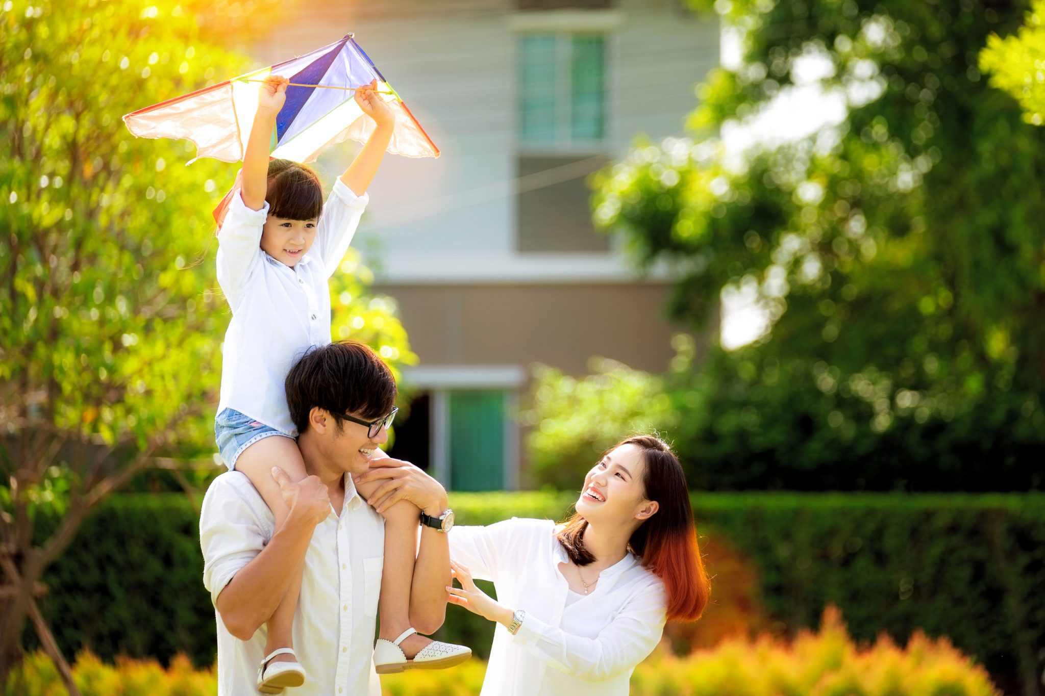
<svg viewBox="0 0 1045 696">
<path fill-rule="evenodd" d="M 672 355 L 668 284 L 594 231 L 585 177 L 637 134 L 682 133 L 718 22 L 684 0 L 302 0 L 255 55 L 349 31 L 442 151 L 386 159 L 354 242 L 421 360 L 393 454 L 456 489 L 517 487 L 532 363 L 661 371 Z"/>
</svg>

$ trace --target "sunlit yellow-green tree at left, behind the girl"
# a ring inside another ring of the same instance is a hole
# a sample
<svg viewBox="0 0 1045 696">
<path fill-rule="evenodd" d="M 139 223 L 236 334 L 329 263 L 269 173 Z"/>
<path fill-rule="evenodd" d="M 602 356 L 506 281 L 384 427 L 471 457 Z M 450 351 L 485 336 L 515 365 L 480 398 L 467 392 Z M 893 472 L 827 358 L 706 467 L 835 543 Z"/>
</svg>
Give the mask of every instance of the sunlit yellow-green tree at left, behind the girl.
<svg viewBox="0 0 1045 696">
<path fill-rule="evenodd" d="M 136 140 L 120 117 L 246 70 L 217 40 L 257 31 L 276 5 L 0 7 L 0 561 L 14 598 L 0 620 L 2 678 L 26 613 L 46 632 L 36 583 L 88 512 L 158 455 L 213 451 L 231 314 L 210 211 L 235 168 L 185 167 L 191 143 Z M 334 336 L 414 359 L 368 273 L 347 257 L 331 288 Z M 34 544 L 42 508 L 61 522 Z"/>
</svg>

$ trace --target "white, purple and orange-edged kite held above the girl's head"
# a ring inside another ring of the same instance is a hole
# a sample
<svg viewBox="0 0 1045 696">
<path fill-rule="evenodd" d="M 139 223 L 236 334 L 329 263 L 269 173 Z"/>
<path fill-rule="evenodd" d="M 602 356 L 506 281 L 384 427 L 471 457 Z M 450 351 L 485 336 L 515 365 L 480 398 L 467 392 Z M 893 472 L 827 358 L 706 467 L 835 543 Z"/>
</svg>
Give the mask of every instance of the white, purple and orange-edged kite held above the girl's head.
<svg viewBox="0 0 1045 696">
<path fill-rule="evenodd" d="M 373 79 L 379 91 L 390 93 L 381 98 L 395 114 L 387 151 L 411 158 L 439 157 L 439 148 L 351 33 L 311 53 L 140 109 L 124 116 L 123 122 L 139 138 L 184 138 L 195 144 L 196 158 L 238 162 L 247 151 L 257 112 L 257 80 L 270 75 L 299 85 L 286 88 L 286 100 L 276 117 L 273 158 L 314 162 L 331 145 L 346 140 L 366 142 L 376 124 L 355 103 L 351 90 Z M 235 189 L 214 211 L 218 224 Z"/>
</svg>

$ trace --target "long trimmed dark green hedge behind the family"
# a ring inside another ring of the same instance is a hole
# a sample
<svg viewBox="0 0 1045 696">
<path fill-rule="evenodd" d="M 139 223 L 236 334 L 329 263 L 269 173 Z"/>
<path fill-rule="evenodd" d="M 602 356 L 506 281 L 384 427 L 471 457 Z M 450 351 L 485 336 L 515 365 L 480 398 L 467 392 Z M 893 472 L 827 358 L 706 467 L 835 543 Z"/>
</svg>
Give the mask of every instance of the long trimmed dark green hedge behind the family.
<svg viewBox="0 0 1045 696">
<path fill-rule="evenodd" d="M 459 524 L 561 518 L 563 494 L 452 494 Z M 704 536 L 760 575 L 782 629 L 815 626 L 836 604 L 856 640 L 915 628 L 947 635 L 1002 685 L 1037 669 L 1045 646 L 1045 495 L 705 494 Z M 196 513 L 180 495 L 112 498 L 46 576 L 45 613 L 72 654 L 124 653 L 195 664 L 214 654 Z M 706 558 L 715 573 L 715 558 Z M 713 590 L 714 596 L 714 590 Z M 440 634 L 486 656 L 491 626 L 450 607 Z M 29 647 L 34 643 L 28 641 Z"/>
</svg>

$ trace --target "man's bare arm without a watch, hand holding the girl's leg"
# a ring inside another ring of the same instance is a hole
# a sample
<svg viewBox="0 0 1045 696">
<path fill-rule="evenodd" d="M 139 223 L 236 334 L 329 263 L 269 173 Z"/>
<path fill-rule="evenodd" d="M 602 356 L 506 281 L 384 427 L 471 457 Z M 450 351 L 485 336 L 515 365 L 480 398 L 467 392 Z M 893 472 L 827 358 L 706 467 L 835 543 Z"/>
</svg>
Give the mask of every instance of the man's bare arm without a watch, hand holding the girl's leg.
<svg viewBox="0 0 1045 696">
<path fill-rule="evenodd" d="M 214 602 L 229 632 L 249 641 L 276 611 L 291 584 L 287 568 L 305 557 L 316 525 L 330 514 L 327 487 L 315 476 L 295 483 L 279 469 L 273 477 L 291 508 L 286 521 L 265 548 L 243 566 Z"/>
</svg>

